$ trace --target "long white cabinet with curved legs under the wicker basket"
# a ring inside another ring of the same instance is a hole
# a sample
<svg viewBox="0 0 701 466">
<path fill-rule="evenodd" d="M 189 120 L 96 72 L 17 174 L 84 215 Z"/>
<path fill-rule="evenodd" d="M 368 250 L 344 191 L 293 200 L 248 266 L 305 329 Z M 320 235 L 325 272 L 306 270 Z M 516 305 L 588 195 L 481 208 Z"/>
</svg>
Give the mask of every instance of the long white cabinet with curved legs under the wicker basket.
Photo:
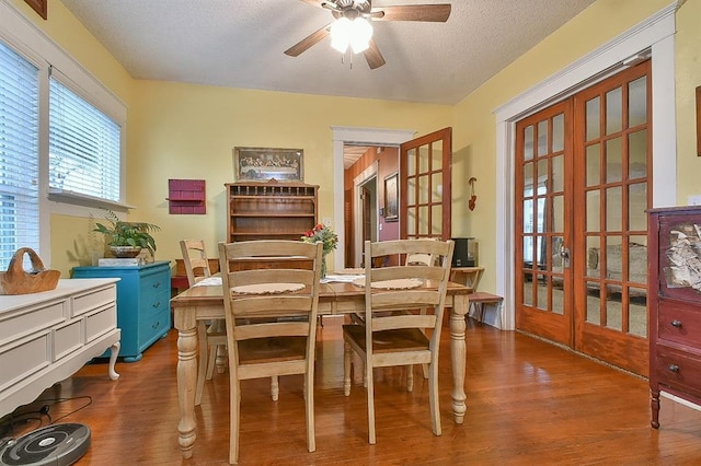
<svg viewBox="0 0 701 466">
<path fill-rule="evenodd" d="M 116 279 L 59 280 L 55 290 L 0 296 L 0 417 L 35 400 L 112 348 L 119 351 Z"/>
</svg>

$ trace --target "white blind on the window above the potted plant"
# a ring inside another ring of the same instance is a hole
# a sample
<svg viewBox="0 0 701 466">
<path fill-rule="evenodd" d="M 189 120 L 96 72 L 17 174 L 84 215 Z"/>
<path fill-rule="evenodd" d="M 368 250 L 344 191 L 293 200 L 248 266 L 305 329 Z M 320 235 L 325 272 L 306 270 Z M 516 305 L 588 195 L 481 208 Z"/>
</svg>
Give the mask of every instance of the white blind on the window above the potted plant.
<svg viewBox="0 0 701 466">
<path fill-rule="evenodd" d="M 49 188 L 120 200 L 122 128 L 53 73 L 49 85 Z"/>
</svg>

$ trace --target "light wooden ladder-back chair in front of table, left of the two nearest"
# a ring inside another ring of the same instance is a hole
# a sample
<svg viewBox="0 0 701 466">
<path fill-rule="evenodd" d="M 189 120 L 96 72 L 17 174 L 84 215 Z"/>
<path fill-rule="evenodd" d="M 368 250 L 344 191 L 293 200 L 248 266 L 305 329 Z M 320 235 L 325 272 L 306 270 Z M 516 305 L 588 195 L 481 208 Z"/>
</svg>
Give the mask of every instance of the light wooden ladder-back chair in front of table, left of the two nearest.
<svg viewBox="0 0 701 466">
<path fill-rule="evenodd" d="M 317 448 L 314 348 L 322 254 L 321 243 L 301 241 L 219 243 L 229 346 L 231 464 L 239 459 L 240 381 L 249 378 L 303 375 L 307 447 Z M 243 267 L 237 267 L 237 261 L 242 260 L 267 264 L 238 270 Z"/>
</svg>

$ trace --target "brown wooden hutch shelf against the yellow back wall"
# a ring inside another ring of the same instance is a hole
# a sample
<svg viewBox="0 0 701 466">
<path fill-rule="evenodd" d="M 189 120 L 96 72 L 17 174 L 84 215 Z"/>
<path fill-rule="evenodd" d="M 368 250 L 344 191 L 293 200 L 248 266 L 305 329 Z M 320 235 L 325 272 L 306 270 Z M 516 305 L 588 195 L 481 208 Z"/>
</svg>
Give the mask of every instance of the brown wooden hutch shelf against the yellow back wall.
<svg viewBox="0 0 701 466">
<path fill-rule="evenodd" d="M 299 240 L 317 224 L 319 186 L 303 183 L 228 183 L 227 240 Z"/>
</svg>

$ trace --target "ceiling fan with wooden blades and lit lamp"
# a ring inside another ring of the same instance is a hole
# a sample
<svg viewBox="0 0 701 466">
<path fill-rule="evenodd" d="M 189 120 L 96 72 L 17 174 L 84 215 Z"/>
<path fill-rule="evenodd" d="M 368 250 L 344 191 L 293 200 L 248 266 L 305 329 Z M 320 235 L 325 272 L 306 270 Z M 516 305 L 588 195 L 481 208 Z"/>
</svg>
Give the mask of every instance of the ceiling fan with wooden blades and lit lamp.
<svg viewBox="0 0 701 466">
<path fill-rule="evenodd" d="M 393 7 L 372 7 L 371 0 L 301 0 L 304 3 L 313 4 L 319 8 L 331 11 L 334 16 L 334 21 L 326 24 L 319 31 L 315 31 L 285 50 L 286 55 L 290 57 L 297 57 L 303 51 L 308 50 L 314 44 L 324 39 L 327 35 L 334 35 L 333 28 L 341 26 L 341 23 L 349 24 L 355 22 L 356 19 L 361 19 L 359 23 L 366 23 L 367 21 L 428 21 L 445 23 L 450 16 L 450 3 L 441 4 L 405 4 Z M 345 24 L 344 24 L 345 25 Z M 341 28 L 341 27 L 338 27 Z M 370 69 L 376 69 L 384 65 L 384 57 L 377 47 L 377 44 L 371 37 L 372 30 L 367 35 L 365 42 L 365 49 L 363 55 L 367 60 Z M 333 38 L 333 37 L 332 37 Z M 348 38 L 349 40 L 349 38 Z M 346 40 L 341 48 L 332 44 L 334 48 L 337 48 L 342 53 L 345 53 L 345 48 L 348 46 Z M 354 46 L 354 51 L 359 51 Z"/>
</svg>

